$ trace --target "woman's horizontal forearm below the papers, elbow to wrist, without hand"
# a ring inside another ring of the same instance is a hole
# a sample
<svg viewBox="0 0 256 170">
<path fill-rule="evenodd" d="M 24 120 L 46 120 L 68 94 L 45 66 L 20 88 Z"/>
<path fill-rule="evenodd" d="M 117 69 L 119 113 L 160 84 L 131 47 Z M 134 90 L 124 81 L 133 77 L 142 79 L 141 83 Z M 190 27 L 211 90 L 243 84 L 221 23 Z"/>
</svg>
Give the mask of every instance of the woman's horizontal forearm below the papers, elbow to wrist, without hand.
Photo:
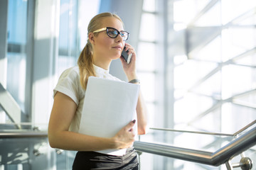
<svg viewBox="0 0 256 170">
<path fill-rule="evenodd" d="M 117 148 L 113 138 L 93 137 L 70 131 L 48 132 L 48 139 L 50 147 L 65 150 L 97 151 Z"/>
</svg>

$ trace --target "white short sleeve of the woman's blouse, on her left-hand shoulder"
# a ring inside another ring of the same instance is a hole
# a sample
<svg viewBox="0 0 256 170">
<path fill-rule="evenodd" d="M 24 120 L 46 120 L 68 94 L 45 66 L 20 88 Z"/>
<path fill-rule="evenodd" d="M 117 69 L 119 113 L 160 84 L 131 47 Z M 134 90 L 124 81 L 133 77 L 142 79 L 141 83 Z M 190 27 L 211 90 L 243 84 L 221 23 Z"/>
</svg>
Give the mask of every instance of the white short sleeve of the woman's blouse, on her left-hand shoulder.
<svg viewBox="0 0 256 170">
<path fill-rule="evenodd" d="M 78 105 L 80 101 L 80 75 L 78 67 L 66 69 L 53 89 L 53 98 L 57 91 L 69 96 Z"/>
</svg>

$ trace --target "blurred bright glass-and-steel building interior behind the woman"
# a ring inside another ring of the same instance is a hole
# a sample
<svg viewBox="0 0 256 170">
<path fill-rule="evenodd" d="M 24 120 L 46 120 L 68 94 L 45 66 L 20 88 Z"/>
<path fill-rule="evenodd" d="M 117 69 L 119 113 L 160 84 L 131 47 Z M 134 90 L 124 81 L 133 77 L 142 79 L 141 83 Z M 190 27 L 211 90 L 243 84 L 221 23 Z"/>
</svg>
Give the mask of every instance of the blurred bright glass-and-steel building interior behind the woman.
<svg viewBox="0 0 256 170">
<path fill-rule="evenodd" d="M 256 120 L 255 0 L 1 0 L 0 170 L 71 169 L 75 152 L 46 137 L 53 88 L 102 12 L 122 18 L 137 50 L 151 128 L 137 140 L 215 152 L 234 137 L 166 129 L 232 135 Z M 126 80 L 119 60 L 110 73 Z M 245 152 L 254 162 L 255 149 Z M 139 161 L 143 170 L 227 169 L 146 152 Z"/>
</svg>

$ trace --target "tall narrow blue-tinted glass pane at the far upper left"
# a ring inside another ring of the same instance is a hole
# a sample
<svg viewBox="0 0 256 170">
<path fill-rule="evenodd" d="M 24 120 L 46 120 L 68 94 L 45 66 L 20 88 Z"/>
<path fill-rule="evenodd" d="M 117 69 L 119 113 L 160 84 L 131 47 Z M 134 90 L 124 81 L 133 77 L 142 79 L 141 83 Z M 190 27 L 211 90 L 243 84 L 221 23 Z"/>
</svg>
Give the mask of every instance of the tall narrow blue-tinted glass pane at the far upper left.
<svg viewBox="0 0 256 170">
<path fill-rule="evenodd" d="M 7 90 L 25 111 L 27 1 L 9 1 Z"/>
</svg>

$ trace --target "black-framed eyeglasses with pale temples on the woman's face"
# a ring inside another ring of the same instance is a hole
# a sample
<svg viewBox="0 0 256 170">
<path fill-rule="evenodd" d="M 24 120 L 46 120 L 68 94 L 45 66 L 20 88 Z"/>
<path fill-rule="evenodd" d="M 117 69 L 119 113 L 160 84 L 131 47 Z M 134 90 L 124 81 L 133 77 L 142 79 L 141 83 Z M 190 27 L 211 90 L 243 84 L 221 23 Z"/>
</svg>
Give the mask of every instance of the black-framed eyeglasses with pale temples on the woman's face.
<svg viewBox="0 0 256 170">
<path fill-rule="evenodd" d="M 92 33 L 100 33 L 104 30 L 107 30 L 107 35 L 110 38 L 117 38 L 117 36 L 120 34 L 123 40 L 128 40 L 129 38 L 129 33 L 125 30 L 117 30 L 116 28 L 112 28 L 112 27 L 105 27 L 105 28 L 100 28 L 98 30 L 93 31 Z"/>
</svg>

